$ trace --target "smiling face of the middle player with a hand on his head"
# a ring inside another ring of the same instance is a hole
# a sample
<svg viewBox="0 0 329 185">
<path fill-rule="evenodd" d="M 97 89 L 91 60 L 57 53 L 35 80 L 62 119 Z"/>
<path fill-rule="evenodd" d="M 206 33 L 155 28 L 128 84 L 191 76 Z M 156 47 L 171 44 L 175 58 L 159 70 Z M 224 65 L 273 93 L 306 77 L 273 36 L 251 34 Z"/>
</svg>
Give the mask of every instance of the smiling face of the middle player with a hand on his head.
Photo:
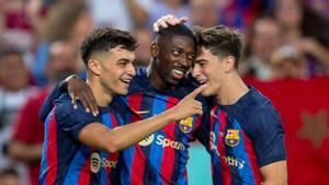
<svg viewBox="0 0 329 185">
<path fill-rule="evenodd" d="M 195 59 L 194 41 L 188 36 L 172 36 L 159 44 L 157 71 L 164 84 L 177 85 Z"/>
</svg>

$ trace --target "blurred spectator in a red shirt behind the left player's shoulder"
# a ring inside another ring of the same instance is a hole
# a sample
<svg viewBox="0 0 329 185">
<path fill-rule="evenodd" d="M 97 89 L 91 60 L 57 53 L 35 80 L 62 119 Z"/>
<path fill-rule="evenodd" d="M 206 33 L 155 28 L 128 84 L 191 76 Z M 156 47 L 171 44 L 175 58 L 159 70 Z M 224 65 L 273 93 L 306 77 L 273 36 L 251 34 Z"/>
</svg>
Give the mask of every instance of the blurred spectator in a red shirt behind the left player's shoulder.
<svg viewBox="0 0 329 185">
<path fill-rule="evenodd" d="M 49 90 L 69 74 L 79 72 L 79 62 L 77 51 L 67 42 L 53 42 L 45 69 L 49 83 L 45 89 L 33 94 L 19 113 L 8 154 L 13 160 L 27 164 L 30 185 L 38 185 L 44 139 L 44 124 L 38 119 L 38 112 Z"/>
</svg>

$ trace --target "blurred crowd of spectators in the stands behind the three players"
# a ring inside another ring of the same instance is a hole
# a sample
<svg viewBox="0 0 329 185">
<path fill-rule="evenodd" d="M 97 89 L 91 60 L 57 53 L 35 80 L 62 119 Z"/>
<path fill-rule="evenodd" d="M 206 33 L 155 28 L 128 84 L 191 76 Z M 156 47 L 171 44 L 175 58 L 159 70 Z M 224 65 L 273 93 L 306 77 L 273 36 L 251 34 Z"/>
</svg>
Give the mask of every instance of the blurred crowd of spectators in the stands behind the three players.
<svg viewBox="0 0 329 185">
<path fill-rule="evenodd" d="M 246 44 L 240 73 L 261 81 L 329 74 L 327 0 L 0 0 L 0 185 L 36 185 L 49 90 L 84 76 L 79 45 L 93 27 L 138 38 L 147 66 L 152 23 L 166 14 L 189 26 L 225 24 Z"/>
</svg>

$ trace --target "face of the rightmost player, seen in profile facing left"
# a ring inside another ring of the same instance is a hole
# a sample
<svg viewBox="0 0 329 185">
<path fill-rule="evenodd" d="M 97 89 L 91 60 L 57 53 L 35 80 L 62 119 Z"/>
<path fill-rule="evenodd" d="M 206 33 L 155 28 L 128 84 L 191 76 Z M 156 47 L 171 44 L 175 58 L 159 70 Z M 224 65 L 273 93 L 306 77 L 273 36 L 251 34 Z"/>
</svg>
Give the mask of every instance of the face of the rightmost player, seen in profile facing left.
<svg viewBox="0 0 329 185">
<path fill-rule="evenodd" d="M 224 81 L 224 62 L 208 49 L 202 47 L 193 65 L 192 74 L 200 84 L 207 84 L 202 91 L 203 96 L 216 95 Z"/>
</svg>

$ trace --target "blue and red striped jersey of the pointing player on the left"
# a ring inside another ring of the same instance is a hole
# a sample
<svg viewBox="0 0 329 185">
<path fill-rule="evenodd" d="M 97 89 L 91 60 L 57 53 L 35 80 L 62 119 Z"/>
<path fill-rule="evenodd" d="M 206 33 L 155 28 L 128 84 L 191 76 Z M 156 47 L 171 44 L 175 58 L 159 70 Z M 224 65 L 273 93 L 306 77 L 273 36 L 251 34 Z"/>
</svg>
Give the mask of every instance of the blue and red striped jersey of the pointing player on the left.
<svg viewBox="0 0 329 185">
<path fill-rule="evenodd" d="M 88 147 L 78 135 L 90 123 L 102 123 L 109 128 L 123 125 L 124 118 L 117 111 L 123 108 L 125 103 L 115 100 L 109 107 L 99 107 L 100 115 L 94 117 L 80 103 L 75 109 L 69 95 L 63 94 L 45 122 L 39 184 L 117 184 L 118 153 Z"/>
</svg>

